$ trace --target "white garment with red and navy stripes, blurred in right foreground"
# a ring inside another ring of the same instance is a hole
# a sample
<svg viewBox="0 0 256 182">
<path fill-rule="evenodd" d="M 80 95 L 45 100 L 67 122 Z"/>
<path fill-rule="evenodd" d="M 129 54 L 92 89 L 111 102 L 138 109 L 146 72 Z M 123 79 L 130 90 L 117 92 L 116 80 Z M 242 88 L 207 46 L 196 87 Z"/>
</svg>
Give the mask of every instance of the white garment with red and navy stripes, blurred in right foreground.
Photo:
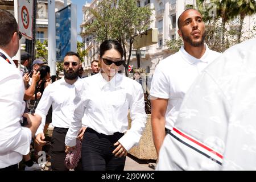
<svg viewBox="0 0 256 182">
<path fill-rule="evenodd" d="M 159 154 L 160 170 L 256 169 L 256 39 L 197 77 Z"/>
</svg>

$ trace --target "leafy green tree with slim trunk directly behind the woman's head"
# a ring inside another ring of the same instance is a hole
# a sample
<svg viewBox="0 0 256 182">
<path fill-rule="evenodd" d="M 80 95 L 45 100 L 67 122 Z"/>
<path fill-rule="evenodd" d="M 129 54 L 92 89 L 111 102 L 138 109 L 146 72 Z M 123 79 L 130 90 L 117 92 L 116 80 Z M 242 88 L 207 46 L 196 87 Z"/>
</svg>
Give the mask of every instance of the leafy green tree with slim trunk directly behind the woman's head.
<svg viewBox="0 0 256 182">
<path fill-rule="evenodd" d="M 93 23 L 84 25 L 82 35 L 94 34 L 98 42 L 117 39 L 124 50 L 126 76 L 134 38 L 145 32 L 152 22 L 152 10 L 138 7 L 135 0 L 102 0 L 97 9 L 91 9 Z"/>
</svg>

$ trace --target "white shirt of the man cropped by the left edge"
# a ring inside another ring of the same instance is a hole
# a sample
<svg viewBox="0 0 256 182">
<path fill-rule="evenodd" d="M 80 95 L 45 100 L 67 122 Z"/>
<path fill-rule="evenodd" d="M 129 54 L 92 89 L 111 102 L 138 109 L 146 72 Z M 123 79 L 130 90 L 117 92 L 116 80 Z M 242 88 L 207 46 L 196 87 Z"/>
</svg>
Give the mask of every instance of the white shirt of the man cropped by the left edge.
<svg viewBox="0 0 256 182">
<path fill-rule="evenodd" d="M 18 164 L 30 151 L 31 131 L 20 125 L 25 102 L 24 83 L 13 60 L 0 57 L 0 168 Z"/>
</svg>

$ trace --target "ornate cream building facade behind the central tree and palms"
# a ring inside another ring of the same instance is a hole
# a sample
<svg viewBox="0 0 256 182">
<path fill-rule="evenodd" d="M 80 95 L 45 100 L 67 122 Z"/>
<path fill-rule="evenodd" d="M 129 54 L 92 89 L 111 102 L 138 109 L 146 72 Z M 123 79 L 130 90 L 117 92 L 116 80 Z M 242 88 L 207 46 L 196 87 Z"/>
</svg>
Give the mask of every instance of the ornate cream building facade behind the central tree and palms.
<svg viewBox="0 0 256 182">
<path fill-rule="evenodd" d="M 90 14 L 90 9 L 95 9 L 100 0 L 92 0 L 90 3 L 86 3 L 82 7 L 83 11 L 83 22 L 81 23 L 81 32 L 82 25 L 86 23 L 92 23 L 94 17 Z M 209 2 L 206 2 L 206 5 L 209 5 Z M 138 6 L 148 6 L 152 11 L 151 19 L 153 20 L 150 28 L 158 28 L 158 43 L 152 46 L 147 46 L 141 48 L 146 54 L 144 58 L 141 58 L 140 64 L 148 75 L 154 74 L 154 70 L 159 61 L 163 60 L 167 56 L 171 55 L 171 52 L 166 46 L 167 40 L 173 40 L 179 38 L 177 34 L 177 18 L 185 10 L 185 7 L 192 5 L 196 7 L 196 0 L 138 0 Z M 250 36 L 251 30 L 255 30 L 256 25 L 256 16 L 246 16 L 243 23 L 243 32 L 245 36 Z M 238 22 L 234 20 L 234 22 Z M 227 28 L 238 28 L 239 24 L 227 24 Z M 89 54 L 85 57 L 85 62 L 83 67 L 85 72 L 90 72 L 90 63 L 94 59 L 98 59 L 98 47 L 99 43 L 96 42 L 94 35 L 85 35 L 82 37 L 82 41 L 85 43 L 85 49 L 89 49 Z M 135 51 L 135 50 L 134 50 Z M 137 59 L 133 56 L 133 59 L 130 61 L 131 67 L 137 68 Z"/>
</svg>

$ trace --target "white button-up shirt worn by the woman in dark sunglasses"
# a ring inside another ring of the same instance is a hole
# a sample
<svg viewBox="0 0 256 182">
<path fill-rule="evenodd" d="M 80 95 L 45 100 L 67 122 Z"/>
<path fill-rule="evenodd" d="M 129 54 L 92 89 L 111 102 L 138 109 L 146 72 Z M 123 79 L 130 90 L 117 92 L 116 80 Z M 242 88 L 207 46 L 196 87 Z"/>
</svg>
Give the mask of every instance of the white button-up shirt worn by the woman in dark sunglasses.
<svg viewBox="0 0 256 182">
<path fill-rule="evenodd" d="M 73 122 L 66 135 L 67 146 L 76 145 L 81 119 L 86 115 L 86 126 L 105 135 L 116 132 L 126 134 L 118 141 L 126 150 L 138 144 L 146 125 L 142 86 L 118 73 L 106 81 L 101 73 L 83 78 L 77 85 L 76 109 Z M 131 129 L 127 130 L 130 109 Z"/>
</svg>

